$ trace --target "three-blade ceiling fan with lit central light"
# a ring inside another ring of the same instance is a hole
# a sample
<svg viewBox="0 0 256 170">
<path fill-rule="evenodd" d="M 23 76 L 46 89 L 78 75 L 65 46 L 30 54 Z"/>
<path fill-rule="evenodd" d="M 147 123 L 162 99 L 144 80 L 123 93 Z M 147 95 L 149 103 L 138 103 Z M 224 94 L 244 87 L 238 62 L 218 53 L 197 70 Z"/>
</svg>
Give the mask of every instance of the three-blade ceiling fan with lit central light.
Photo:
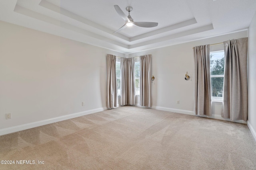
<svg viewBox="0 0 256 170">
<path fill-rule="evenodd" d="M 126 16 L 124 14 L 124 12 L 121 10 L 121 8 L 118 5 L 114 5 L 116 12 L 125 20 L 125 24 L 120 27 L 117 31 L 115 31 L 114 33 L 121 31 L 122 29 L 124 29 L 126 26 L 132 26 L 132 25 L 137 25 L 139 27 L 156 27 L 158 25 L 157 22 L 134 22 L 132 17 L 130 16 L 130 12 L 132 11 L 132 7 L 131 6 L 127 6 L 126 7 L 126 11 L 128 12 L 128 16 Z"/>
</svg>

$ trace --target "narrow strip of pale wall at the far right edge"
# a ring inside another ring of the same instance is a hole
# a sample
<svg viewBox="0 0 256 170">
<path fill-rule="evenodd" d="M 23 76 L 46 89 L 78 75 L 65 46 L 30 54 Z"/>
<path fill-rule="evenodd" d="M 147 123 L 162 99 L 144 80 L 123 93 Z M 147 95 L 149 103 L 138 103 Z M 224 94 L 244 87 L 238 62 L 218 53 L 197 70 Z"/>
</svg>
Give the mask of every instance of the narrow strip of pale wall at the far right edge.
<svg viewBox="0 0 256 170">
<path fill-rule="evenodd" d="M 248 30 L 248 126 L 256 140 L 256 14 Z"/>
</svg>

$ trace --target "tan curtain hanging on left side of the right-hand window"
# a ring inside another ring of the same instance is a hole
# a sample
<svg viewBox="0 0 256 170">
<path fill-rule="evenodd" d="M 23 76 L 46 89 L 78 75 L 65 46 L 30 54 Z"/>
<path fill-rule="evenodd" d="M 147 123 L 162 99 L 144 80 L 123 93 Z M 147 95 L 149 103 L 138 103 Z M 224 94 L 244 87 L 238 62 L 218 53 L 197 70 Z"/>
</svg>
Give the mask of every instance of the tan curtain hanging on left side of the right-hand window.
<svg viewBox="0 0 256 170">
<path fill-rule="evenodd" d="M 194 113 L 212 115 L 210 45 L 194 47 Z"/>
</svg>

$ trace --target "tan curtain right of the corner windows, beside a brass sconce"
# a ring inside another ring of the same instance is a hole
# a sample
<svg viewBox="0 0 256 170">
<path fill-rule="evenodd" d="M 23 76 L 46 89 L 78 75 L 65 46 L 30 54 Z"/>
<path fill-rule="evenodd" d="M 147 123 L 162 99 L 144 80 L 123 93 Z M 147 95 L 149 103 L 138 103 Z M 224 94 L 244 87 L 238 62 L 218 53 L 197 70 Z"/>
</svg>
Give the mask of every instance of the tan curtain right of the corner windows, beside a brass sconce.
<svg viewBox="0 0 256 170">
<path fill-rule="evenodd" d="M 152 107 L 151 55 L 140 56 L 140 105 Z"/>
</svg>

